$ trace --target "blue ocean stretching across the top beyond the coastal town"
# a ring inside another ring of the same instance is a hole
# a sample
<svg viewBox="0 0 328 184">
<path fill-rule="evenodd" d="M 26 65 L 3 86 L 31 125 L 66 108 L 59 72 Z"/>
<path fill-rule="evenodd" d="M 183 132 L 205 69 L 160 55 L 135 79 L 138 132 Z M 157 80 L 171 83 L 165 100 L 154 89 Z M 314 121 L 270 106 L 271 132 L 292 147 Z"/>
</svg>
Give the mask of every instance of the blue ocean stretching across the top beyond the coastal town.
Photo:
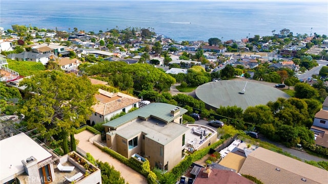
<svg viewBox="0 0 328 184">
<path fill-rule="evenodd" d="M 272 35 L 328 35 L 328 1 L 0 1 L 0 27 L 32 25 L 58 30 L 150 28 L 182 40 L 241 39 Z"/>
</svg>

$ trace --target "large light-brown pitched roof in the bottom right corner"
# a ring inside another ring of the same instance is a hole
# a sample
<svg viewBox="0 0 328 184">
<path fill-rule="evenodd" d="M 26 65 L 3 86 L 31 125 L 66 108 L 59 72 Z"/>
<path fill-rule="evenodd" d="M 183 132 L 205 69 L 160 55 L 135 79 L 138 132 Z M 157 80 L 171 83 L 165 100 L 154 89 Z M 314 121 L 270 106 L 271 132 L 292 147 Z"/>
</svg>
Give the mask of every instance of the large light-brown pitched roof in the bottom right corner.
<svg viewBox="0 0 328 184">
<path fill-rule="evenodd" d="M 328 183 L 328 171 L 261 147 L 247 156 L 239 173 L 263 183 Z"/>
</svg>

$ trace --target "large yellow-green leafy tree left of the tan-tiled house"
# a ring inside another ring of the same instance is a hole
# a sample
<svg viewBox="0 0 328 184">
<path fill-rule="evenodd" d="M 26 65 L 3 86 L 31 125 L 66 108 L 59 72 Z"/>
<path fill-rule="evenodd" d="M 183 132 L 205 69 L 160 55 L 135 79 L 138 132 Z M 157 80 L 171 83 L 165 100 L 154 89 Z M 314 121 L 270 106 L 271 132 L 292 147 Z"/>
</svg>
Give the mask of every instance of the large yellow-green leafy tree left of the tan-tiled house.
<svg viewBox="0 0 328 184">
<path fill-rule="evenodd" d="M 19 83 L 33 93 L 20 109 L 29 128 L 37 128 L 40 135 L 60 137 L 64 153 L 68 153 L 68 136 L 85 124 L 95 104 L 95 89 L 87 77 L 60 71 L 43 71 Z M 74 136 L 71 136 L 71 139 Z M 75 144 L 75 140 L 71 140 Z M 73 148 L 73 146 L 72 146 Z"/>
</svg>

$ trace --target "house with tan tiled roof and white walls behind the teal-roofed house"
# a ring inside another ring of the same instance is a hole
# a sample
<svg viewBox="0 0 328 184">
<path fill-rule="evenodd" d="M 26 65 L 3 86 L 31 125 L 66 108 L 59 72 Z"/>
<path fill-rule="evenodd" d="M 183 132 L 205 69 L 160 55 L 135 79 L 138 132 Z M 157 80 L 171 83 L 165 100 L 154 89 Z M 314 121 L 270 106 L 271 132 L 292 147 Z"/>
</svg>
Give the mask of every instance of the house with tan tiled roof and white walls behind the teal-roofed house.
<svg viewBox="0 0 328 184">
<path fill-rule="evenodd" d="M 98 90 L 99 94 L 95 97 L 97 104 L 92 106 L 94 114 L 90 116 L 91 125 L 99 122 L 108 121 L 112 116 L 121 112 L 128 112 L 132 108 L 138 108 L 141 99 L 124 93 L 111 93 L 102 89 Z"/>
</svg>

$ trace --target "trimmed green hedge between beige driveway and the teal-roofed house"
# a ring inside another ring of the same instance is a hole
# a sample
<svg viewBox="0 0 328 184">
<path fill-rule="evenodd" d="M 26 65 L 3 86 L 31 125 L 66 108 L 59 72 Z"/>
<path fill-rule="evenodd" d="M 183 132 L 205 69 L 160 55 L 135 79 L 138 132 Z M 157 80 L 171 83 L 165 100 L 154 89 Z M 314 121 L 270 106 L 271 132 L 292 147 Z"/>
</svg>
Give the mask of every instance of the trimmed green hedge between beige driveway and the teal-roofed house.
<svg viewBox="0 0 328 184">
<path fill-rule="evenodd" d="M 96 145 L 97 146 L 97 145 Z M 106 153 L 110 154 L 115 159 L 119 160 L 120 162 L 124 163 L 128 167 L 132 168 L 133 170 L 137 171 L 138 173 L 144 175 L 147 178 L 148 183 L 155 184 L 156 183 L 156 175 L 153 173 L 153 171 L 150 170 L 149 161 L 146 160 L 142 164 L 141 162 L 135 160 L 134 158 L 126 158 L 122 156 L 121 154 L 115 152 L 114 150 L 111 150 L 107 147 L 98 147 L 102 151 L 105 151 Z"/>
</svg>

